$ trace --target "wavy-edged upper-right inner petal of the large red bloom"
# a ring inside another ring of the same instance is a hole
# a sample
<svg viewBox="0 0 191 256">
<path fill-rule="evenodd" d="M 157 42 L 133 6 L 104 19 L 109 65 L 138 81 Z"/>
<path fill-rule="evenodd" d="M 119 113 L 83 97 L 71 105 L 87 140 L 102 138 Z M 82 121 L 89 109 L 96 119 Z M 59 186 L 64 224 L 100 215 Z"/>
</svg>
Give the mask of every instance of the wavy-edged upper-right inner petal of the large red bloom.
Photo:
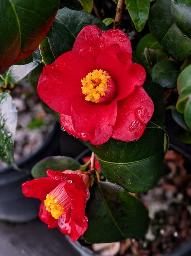
<svg viewBox="0 0 191 256">
<path fill-rule="evenodd" d="M 118 46 L 111 45 L 99 55 L 96 60 L 97 69 L 106 70 L 115 82 L 116 100 L 132 94 L 136 85 L 143 85 L 145 70 L 139 64 L 132 63 L 130 53 L 121 52 Z M 114 64 L 115 63 L 115 64 Z"/>
</svg>

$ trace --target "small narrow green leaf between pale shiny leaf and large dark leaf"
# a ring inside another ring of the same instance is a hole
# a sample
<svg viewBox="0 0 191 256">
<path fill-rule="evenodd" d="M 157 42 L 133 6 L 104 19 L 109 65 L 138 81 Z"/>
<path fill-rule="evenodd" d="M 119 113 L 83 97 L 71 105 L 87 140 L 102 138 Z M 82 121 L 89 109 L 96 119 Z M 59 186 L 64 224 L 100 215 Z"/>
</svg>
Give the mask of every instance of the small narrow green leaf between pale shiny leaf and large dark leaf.
<svg viewBox="0 0 191 256">
<path fill-rule="evenodd" d="M 48 41 L 48 37 L 44 37 L 39 45 L 40 55 L 42 56 L 42 62 L 44 65 L 52 64 L 55 61 L 55 57 L 51 50 L 51 46 Z"/>
</svg>

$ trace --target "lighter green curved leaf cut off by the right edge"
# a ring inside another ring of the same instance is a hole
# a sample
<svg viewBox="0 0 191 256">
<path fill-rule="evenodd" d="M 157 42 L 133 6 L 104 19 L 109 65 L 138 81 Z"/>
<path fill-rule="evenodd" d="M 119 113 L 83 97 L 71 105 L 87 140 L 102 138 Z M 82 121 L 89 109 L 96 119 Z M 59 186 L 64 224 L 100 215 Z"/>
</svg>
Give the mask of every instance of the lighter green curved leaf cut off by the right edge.
<svg viewBox="0 0 191 256">
<path fill-rule="evenodd" d="M 177 89 L 179 96 L 176 103 L 176 109 L 183 114 L 186 102 L 191 95 L 191 64 L 183 69 L 178 76 Z"/>
</svg>

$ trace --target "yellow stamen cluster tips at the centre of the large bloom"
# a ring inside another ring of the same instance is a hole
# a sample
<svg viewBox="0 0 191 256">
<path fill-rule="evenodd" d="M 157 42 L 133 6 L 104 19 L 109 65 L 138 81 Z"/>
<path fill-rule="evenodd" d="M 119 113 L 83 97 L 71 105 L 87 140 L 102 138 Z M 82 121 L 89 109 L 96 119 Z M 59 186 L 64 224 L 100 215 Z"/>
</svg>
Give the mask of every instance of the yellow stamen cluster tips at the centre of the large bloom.
<svg viewBox="0 0 191 256">
<path fill-rule="evenodd" d="M 86 95 L 85 100 L 98 103 L 99 99 L 105 96 L 108 87 L 107 80 L 110 78 L 107 74 L 106 71 L 95 69 L 81 80 L 82 93 Z"/>
</svg>

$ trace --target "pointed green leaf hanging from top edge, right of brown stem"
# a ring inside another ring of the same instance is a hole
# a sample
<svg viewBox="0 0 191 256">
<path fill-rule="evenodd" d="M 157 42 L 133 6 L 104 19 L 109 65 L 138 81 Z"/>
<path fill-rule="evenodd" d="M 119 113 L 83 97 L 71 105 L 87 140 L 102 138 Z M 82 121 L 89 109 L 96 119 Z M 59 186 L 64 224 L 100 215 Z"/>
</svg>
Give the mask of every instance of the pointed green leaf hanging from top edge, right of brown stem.
<svg viewBox="0 0 191 256">
<path fill-rule="evenodd" d="M 126 6 L 135 28 L 142 31 L 149 14 L 149 0 L 126 0 Z"/>
</svg>

